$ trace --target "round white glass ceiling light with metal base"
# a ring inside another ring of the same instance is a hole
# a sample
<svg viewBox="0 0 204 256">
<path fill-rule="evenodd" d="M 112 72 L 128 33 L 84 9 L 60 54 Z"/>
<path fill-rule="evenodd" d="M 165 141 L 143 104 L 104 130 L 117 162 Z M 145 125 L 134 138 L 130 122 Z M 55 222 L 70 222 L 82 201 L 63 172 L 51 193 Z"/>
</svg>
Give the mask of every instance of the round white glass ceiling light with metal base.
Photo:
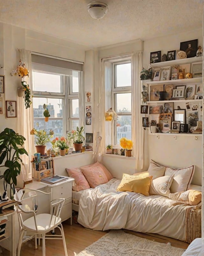
<svg viewBox="0 0 204 256">
<path fill-rule="evenodd" d="M 87 5 L 87 10 L 92 18 L 101 19 L 108 11 L 108 6 L 101 2 L 93 2 Z"/>
</svg>

